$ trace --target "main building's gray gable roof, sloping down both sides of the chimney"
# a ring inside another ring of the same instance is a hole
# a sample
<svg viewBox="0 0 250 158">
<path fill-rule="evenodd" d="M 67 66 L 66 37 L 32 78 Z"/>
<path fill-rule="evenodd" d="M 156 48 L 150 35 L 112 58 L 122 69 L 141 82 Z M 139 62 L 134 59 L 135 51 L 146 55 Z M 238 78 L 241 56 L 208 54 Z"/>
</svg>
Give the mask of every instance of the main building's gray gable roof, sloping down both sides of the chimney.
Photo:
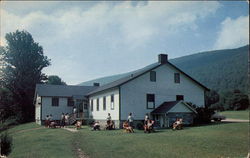
<svg viewBox="0 0 250 158">
<path fill-rule="evenodd" d="M 198 85 L 200 85 L 201 87 L 203 87 L 205 90 L 209 90 L 206 86 L 202 85 L 200 82 L 196 81 L 195 79 L 193 79 L 191 76 L 189 76 L 188 74 L 186 74 L 185 72 L 183 72 L 182 70 L 180 70 L 178 67 L 176 67 L 175 65 L 173 65 L 172 63 L 170 62 L 167 62 L 167 64 L 173 66 L 175 69 L 177 69 L 178 71 L 180 71 L 181 73 L 183 73 L 185 76 L 187 76 L 188 78 L 190 78 L 191 80 L 193 80 L 195 83 L 197 83 Z M 123 78 L 120 78 L 116 81 L 113 81 L 113 82 L 110 82 L 108 84 L 105 84 L 103 86 L 100 86 L 98 87 L 97 89 L 91 91 L 90 93 L 88 93 L 88 95 L 91 95 L 91 94 L 94 94 L 94 93 L 97 93 L 97 92 L 101 92 L 101 91 L 104 91 L 104 90 L 107 90 L 107 89 L 111 89 L 111 88 L 114 88 L 114 87 L 118 87 L 122 84 L 125 84 L 159 66 L 161 66 L 163 64 L 157 62 L 157 63 L 153 63 L 151 65 L 148 65 L 142 69 L 139 69 L 139 70 L 136 70 L 136 71 L 133 71 L 132 73 L 128 74 L 127 76 L 123 77 Z"/>
</svg>

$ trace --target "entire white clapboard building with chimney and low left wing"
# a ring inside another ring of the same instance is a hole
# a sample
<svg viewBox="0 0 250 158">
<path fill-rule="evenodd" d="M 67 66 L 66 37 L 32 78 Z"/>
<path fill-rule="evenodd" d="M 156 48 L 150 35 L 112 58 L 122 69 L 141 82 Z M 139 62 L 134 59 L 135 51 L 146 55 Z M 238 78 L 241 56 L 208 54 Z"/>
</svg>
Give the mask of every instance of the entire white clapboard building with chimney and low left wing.
<svg viewBox="0 0 250 158">
<path fill-rule="evenodd" d="M 118 126 L 130 112 L 136 121 L 148 113 L 160 127 L 169 127 L 176 118 L 192 124 L 196 111 L 187 102 L 204 106 L 208 90 L 160 54 L 158 62 L 104 85 L 37 85 L 36 120 L 41 123 L 49 114 L 60 119 L 76 106 L 83 119 L 102 122 L 110 113 Z"/>
</svg>

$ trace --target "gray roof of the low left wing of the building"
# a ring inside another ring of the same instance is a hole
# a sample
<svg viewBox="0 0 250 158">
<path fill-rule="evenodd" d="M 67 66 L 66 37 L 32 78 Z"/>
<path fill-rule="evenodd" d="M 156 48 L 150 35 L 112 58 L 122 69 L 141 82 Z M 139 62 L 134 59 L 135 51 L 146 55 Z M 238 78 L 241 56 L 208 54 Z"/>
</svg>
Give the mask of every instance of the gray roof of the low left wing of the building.
<svg viewBox="0 0 250 158">
<path fill-rule="evenodd" d="M 81 97 L 93 91 L 95 86 L 71 86 L 71 85 L 50 85 L 50 84 L 37 84 L 36 94 L 39 96 L 54 96 L 54 97 Z"/>
</svg>

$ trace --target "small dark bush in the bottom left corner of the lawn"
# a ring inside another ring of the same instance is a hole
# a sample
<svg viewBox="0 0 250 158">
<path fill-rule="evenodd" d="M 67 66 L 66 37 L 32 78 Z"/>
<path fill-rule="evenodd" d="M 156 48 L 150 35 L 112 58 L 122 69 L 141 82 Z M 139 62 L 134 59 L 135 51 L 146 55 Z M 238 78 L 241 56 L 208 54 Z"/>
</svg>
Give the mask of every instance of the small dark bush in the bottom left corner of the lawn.
<svg viewBox="0 0 250 158">
<path fill-rule="evenodd" d="M 9 155 L 12 147 L 12 137 L 10 137 L 6 132 L 0 136 L 1 142 L 1 155 Z"/>
</svg>

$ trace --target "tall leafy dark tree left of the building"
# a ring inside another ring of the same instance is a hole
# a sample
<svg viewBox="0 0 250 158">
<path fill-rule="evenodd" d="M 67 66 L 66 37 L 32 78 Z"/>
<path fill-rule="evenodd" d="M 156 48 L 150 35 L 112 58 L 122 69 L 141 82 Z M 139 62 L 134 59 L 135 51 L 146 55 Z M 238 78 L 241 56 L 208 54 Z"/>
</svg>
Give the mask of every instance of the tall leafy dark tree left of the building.
<svg viewBox="0 0 250 158">
<path fill-rule="evenodd" d="M 50 60 L 27 31 L 7 33 L 5 38 L 7 46 L 0 49 L 4 63 L 1 84 L 10 91 L 21 115 L 20 121 L 32 121 L 35 86 L 46 79 L 42 69 L 50 65 Z"/>
</svg>

